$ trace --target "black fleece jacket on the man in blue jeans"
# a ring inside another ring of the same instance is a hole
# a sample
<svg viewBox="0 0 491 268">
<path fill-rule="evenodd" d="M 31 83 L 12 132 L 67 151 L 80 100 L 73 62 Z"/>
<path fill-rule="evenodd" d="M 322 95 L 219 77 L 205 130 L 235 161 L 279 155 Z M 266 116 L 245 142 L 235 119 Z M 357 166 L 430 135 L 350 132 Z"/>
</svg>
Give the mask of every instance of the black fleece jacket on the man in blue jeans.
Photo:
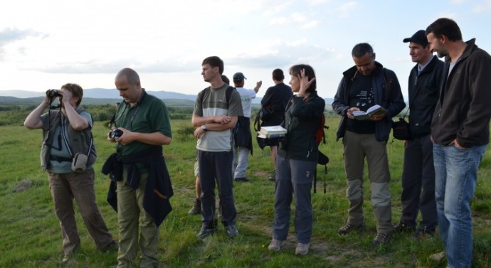
<svg viewBox="0 0 491 268">
<path fill-rule="evenodd" d="M 435 144 L 448 145 L 457 139 L 465 148 L 490 142 L 491 56 L 466 42 L 463 54 L 449 74 L 450 57 L 445 57 L 445 75 L 431 122 Z"/>
</svg>

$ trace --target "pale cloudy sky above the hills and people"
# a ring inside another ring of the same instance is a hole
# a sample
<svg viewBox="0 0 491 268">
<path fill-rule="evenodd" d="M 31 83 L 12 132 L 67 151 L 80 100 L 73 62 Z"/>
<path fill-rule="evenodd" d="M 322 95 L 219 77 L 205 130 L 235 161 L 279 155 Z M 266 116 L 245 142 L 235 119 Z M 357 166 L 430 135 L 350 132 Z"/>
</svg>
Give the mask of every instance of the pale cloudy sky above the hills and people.
<svg viewBox="0 0 491 268">
<path fill-rule="evenodd" d="M 217 55 L 246 88 L 273 86 L 275 68 L 305 63 L 317 91 L 332 98 L 351 50 L 370 43 L 407 96 L 408 38 L 437 18 L 453 18 L 468 41 L 491 53 L 491 0 L 6 0 L 0 9 L 1 90 L 44 92 L 67 82 L 114 89 L 122 68 L 152 91 L 196 95 L 208 86 L 204 58 Z"/>
</svg>

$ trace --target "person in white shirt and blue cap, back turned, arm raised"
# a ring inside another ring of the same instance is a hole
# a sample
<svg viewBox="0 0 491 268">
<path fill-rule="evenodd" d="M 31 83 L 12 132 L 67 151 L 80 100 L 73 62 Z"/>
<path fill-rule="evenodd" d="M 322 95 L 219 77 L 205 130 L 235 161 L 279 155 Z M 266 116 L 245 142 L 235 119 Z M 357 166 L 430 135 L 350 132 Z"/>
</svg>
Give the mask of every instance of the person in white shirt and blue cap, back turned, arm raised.
<svg viewBox="0 0 491 268">
<path fill-rule="evenodd" d="M 245 171 L 249 162 L 249 151 L 253 154 L 253 139 L 250 134 L 250 104 L 255 98 L 255 94 L 259 91 L 263 81 L 255 83 L 253 90 L 244 88 L 244 80 L 247 79 L 243 73 L 233 75 L 233 85 L 241 95 L 242 110 L 244 116 L 238 117 L 236 128 L 233 130 L 233 161 L 232 173 L 234 181 L 249 181 L 245 177 Z"/>
</svg>

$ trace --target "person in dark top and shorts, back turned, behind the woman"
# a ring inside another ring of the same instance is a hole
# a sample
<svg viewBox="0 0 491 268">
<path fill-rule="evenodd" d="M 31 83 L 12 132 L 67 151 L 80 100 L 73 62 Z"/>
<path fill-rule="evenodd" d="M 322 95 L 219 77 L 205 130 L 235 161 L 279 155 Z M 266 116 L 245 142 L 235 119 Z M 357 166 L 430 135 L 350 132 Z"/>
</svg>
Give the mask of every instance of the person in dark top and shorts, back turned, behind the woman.
<svg viewBox="0 0 491 268">
<path fill-rule="evenodd" d="M 283 121 L 283 117 L 285 116 L 285 108 L 292 97 L 292 88 L 288 85 L 285 85 L 283 80 L 285 79 L 285 75 L 283 75 L 283 70 L 275 69 L 273 70 L 273 82 L 275 85 L 273 87 L 269 87 L 266 90 L 263 99 L 261 100 L 262 107 L 269 107 L 271 111 L 271 115 L 269 118 L 263 118 L 263 122 L 261 123 L 261 127 L 270 127 L 270 126 L 278 126 Z M 263 149 L 265 146 L 270 146 L 270 156 L 271 161 L 273 161 L 273 174 L 268 177 L 270 181 L 275 181 L 276 177 L 276 154 L 278 149 L 278 139 L 262 139 L 258 137 L 258 144 L 260 149 Z"/>
</svg>

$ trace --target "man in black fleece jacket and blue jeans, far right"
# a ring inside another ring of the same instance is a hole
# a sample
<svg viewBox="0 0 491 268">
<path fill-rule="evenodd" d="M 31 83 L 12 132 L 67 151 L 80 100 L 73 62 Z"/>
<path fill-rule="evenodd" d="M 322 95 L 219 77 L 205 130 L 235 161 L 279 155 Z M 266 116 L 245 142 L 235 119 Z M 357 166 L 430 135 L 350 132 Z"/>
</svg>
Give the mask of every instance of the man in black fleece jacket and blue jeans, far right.
<svg viewBox="0 0 491 268">
<path fill-rule="evenodd" d="M 426 28 L 426 37 L 441 58 L 445 74 L 431 122 L 435 165 L 435 199 L 440 238 L 448 267 L 472 264 L 470 200 L 477 169 L 490 142 L 491 56 L 464 42 L 455 21 L 438 18 Z"/>
</svg>

